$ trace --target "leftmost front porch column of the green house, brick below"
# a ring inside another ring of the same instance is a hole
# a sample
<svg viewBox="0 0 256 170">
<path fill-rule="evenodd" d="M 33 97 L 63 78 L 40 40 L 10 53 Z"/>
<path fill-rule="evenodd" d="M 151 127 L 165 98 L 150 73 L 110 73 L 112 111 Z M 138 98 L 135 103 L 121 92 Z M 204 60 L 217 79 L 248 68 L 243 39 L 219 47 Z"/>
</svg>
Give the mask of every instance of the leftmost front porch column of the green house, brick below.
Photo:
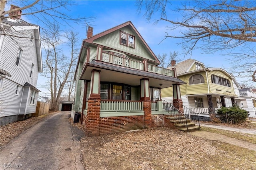
<svg viewBox="0 0 256 170">
<path fill-rule="evenodd" d="M 88 136 L 99 135 L 100 127 L 100 70 L 92 70 L 85 130 Z"/>
</svg>

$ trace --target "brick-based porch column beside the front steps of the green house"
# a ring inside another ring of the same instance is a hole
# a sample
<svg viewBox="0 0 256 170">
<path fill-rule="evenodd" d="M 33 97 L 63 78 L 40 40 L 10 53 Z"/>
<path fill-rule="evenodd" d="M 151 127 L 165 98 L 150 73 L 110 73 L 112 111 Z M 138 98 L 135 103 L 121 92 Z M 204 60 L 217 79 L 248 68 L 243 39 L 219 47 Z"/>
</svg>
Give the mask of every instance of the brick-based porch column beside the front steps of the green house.
<svg viewBox="0 0 256 170">
<path fill-rule="evenodd" d="M 183 102 L 180 95 L 180 84 L 173 84 L 173 106 L 178 109 L 181 113 L 184 113 Z"/>
</svg>

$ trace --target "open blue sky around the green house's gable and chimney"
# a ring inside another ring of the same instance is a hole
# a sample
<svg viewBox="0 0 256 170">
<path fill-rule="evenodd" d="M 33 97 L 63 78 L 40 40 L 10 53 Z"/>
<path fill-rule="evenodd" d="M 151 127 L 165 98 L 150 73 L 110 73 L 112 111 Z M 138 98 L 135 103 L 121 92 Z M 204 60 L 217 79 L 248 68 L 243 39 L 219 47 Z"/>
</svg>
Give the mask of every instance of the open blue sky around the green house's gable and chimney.
<svg viewBox="0 0 256 170">
<path fill-rule="evenodd" d="M 181 42 L 180 39 L 167 38 L 162 41 L 166 35 L 166 26 L 167 22 L 160 21 L 158 24 L 154 25 L 154 19 L 148 22 L 145 18 L 143 18 L 142 14 L 138 14 L 137 6 L 135 6 L 134 0 L 128 1 L 116 1 L 116 0 L 104 0 L 104 1 L 88 1 L 88 0 L 80 0 L 73 1 L 77 5 L 71 6 L 69 8 L 70 11 L 66 11 L 67 14 L 72 16 L 94 16 L 93 20 L 90 20 L 89 24 L 94 28 L 93 34 L 100 33 L 106 29 L 110 29 L 116 25 L 120 25 L 126 21 L 132 21 L 136 29 L 142 35 L 146 43 L 152 49 L 152 51 L 157 54 L 167 53 L 169 55 L 170 52 L 178 51 L 182 53 L 181 45 L 177 45 L 177 43 Z M 180 4 L 180 1 L 172 2 L 173 5 Z M 173 20 L 179 17 L 179 14 L 173 11 L 168 12 L 168 18 L 170 15 Z M 159 17 L 159 15 L 156 15 Z M 36 21 L 30 20 L 29 22 L 35 23 Z M 35 23 L 37 24 L 37 23 Z M 72 23 L 70 23 L 73 25 Z M 84 24 L 85 25 L 85 24 Z M 86 38 L 86 27 L 84 25 L 74 25 L 75 31 L 79 33 L 79 37 L 82 39 Z M 69 29 L 68 27 L 65 29 Z M 178 35 L 180 30 L 175 30 L 172 34 Z M 162 41 L 162 42 L 161 42 Z M 200 50 L 194 50 L 192 56 L 190 55 L 180 55 L 179 58 L 183 59 L 196 59 L 204 63 L 206 67 L 217 67 L 224 68 L 228 71 L 228 67 L 230 67 L 230 63 L 225 59 L 227 56 L 220 55 L 220 52 L 216 52 L 214 54 L 202 54 Z M 239 79 L 237 79 L 240 82 Z M 41 88 L 45 82 L 44 77 L 39 76 L 38 78 L 38 89 L 42 92 L 47 92 L 47 90 Z"/>
</svg>

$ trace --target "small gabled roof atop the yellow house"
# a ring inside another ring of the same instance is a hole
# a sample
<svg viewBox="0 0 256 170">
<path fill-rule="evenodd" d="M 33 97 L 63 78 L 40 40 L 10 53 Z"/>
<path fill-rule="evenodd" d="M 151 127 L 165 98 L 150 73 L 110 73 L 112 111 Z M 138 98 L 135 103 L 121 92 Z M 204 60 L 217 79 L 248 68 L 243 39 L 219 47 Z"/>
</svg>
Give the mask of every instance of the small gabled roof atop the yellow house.
<svg viewBox="0 0 256 170">
<path fill-rule="evenodd" d="M 200 61 L 196 61 L 194 59 L 187 59 L 185 61 L 177 63 L 175 66 L 172 66 L 172 68 L 176 68 L 177 75 L 179 75 L 188 72 L 194 63 L 202 64 L 203 68 L 205 68 L 204 63 L 201 63 Z"/>
</svg>

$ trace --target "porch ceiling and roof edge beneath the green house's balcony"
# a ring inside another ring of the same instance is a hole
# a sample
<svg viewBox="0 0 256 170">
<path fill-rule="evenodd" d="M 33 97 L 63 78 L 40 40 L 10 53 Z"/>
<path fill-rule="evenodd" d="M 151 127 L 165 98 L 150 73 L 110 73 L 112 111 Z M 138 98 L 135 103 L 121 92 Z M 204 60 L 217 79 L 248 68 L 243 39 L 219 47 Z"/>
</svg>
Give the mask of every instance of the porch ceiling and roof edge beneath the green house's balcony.
<svg viewBox="0 0 256 170">
<path fill-rule="evenodd" d="M 175 77 L 126 68 L 100 61 L 92 61 L 90 63 L 86 63 L 80 79 L 90 80 L 93 69 L 100 70 L 101 82 L 116 82 L 129 84 L 131 86 L 140 86 L 140 79 L 148 78 L 149 84 L 152 87 L 166 88 L 171 87 L 172 84 L 184 84 L 182 80 Z M 160 86 L 160 84 L 162 84 L 162 86 Z"/>
</svg>

